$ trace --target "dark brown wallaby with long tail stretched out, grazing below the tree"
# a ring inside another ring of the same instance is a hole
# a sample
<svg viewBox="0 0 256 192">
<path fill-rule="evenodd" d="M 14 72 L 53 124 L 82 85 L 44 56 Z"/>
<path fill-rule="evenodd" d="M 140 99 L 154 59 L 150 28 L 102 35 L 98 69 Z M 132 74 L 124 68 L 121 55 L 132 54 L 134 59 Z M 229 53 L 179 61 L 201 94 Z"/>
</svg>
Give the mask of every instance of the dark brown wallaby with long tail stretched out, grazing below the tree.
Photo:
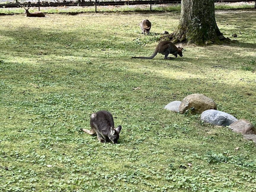
<svg viewBox="0 0 256 192">
<path fill-rule="evenodd" d="M 168 57 L 169 54 L 175 55 L 177 58 L 177 55 L 180 55 L 182 57 L 182 50 L 183 48 L 176 47 L 175 44 L 173 44 L 171 41 L 162 41 L 157 46 L 155 51 L 150 57 L 132 57 L 132 58 L 139 58 L 139 59 L 152 59 L 156 56 L 157 53 L 161 53 L 164 55 L 164 59 L 171 59 L 172 57 Z"/>
</svg>

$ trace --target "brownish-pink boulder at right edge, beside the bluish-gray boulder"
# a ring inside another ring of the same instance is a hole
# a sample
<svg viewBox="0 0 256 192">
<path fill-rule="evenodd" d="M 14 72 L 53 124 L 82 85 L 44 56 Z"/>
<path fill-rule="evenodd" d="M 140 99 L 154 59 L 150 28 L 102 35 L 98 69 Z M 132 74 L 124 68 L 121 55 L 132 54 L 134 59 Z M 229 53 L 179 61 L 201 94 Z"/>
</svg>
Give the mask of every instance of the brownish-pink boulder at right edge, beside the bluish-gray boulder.
<svg viewBox="0 0 256 192">
<path fill-rule="evenodd" d="M 256 130 L 253 124 L 251 124 L 250 121 L 247 121 L 246 119 L 239 119 L 238 121 L 233 122 L 229 128 L 242 134 L 256 134 Z"/>
</svg>

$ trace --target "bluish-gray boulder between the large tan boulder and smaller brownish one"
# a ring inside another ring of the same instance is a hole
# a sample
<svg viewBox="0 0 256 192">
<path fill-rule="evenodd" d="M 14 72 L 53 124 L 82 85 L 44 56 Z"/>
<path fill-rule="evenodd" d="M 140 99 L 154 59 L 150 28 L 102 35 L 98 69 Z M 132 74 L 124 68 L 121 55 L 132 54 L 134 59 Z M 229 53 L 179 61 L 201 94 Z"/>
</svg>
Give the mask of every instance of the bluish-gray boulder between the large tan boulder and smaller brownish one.
<svg viewBox="0 0 256 192">
<path fill-rule="evenodd" d="M 237 121 L 237 119 L 228 113 L 210 109 L 201 114 L 201 121 L 214 125 L 228 126 Z"/>
</svg>

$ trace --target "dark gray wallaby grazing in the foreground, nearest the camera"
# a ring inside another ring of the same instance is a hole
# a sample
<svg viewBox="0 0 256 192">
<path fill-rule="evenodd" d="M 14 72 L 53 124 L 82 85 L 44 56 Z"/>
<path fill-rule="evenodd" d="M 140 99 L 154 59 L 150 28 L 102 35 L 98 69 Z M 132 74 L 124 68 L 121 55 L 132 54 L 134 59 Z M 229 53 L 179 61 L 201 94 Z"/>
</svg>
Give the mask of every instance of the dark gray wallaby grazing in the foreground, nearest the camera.
<svg viewBox="0 0 256 192">
<path fill-rule="evenodd" d="M 119 139 L 119 133 L 121 131 L 121 125 L 114 127 L 113 116 L 108 111 L 98 111 L 92 113 L 90 117 L 91 130 L 80 129 L 90 135 L 97 134 L 97 139 L 101 143 L 107 143 L 112 141 L 112 143 L 117 143 Z"/>
</svg>

